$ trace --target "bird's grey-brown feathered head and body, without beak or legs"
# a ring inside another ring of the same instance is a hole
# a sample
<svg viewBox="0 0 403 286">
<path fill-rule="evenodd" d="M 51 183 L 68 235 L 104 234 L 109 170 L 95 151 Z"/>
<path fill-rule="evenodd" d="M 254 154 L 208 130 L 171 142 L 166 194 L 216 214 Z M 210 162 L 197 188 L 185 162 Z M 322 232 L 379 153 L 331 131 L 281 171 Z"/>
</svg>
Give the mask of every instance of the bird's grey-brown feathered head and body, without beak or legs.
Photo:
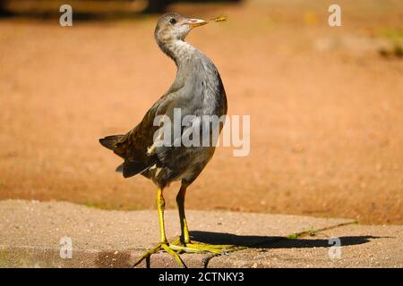
<svg viewBox="0 0 403 286">
<path fill-rule="evenodd" d="M 154 33 L 161 50 L 176 63 L 174 83 L 133 130 L 123 136 L 99 139 L 103 146 L 124 158 L 121 168 L 124 177 L 141 173 L 161 188 L 171 181 L 192 183 L 210 161 L 215 147 L 163 146 L 148 153 L 154 143 L 154 133 L 159 129 L 153 125 L 155 117 L 166 115 L 173 122 L 175 108 L 180 108 L 182 117 L 195 115 L 197 126 L 183 127 L 183 134 L 187 128 L 201 132 L 202 115 L 227 114 L 227 97 L 219 71 L 208 56 L 184 41 L 190 30 L 179 26 L 184 19 L 176 13 L 166 14 L 159 19 Z M 171 143 L 177 139 L 174 137 Z"/>
</svg>

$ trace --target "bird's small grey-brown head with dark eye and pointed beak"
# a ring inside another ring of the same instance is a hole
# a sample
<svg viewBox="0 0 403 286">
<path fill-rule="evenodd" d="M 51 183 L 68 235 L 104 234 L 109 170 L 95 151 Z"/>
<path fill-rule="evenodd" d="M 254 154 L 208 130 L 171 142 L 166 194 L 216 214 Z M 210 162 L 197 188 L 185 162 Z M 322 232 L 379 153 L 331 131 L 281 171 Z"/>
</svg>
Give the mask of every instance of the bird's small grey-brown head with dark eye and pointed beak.
<svg viewBox="0 0 403 286">
<path fill-rule="evenodd" d="M 191 29 L 207 23 L 200 19 L 186 18 L 178 13 L 167 13 L 159 17 L 154 36 L 159 44 L 184 40 Z"/>
</svg>

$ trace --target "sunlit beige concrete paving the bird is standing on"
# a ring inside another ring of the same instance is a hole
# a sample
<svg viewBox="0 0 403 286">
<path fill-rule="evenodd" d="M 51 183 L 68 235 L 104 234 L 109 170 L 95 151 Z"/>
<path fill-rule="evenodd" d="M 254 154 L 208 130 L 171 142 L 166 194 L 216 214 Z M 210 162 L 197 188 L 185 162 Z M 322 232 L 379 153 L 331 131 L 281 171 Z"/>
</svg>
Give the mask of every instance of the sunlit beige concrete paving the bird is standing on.
<svg viewBox="0 0 403 286">
<path fill-rule="evenodd" d="M 183 254 L 188 267 L 403 266 L 402 225 L 283 214 L 188 210 L 186 215 L 193 240 L 248 247 L 223 256 Z M 180 233 L 176 211 L 166 212 L 166 226 L 168 240 L 176 238 Z M 64 237 L 72 240 L 72 258 L 60 257 L 59 243 Z M 335 241 L 341 248 L 332 247 L 333 237 L 339 239 Z M 158 240 L 155 211 L 0 201 L 1 267 L 129 267 Z M 159 253 L 151 257 L 150 266 L 177 265 Z"/>
</svg>

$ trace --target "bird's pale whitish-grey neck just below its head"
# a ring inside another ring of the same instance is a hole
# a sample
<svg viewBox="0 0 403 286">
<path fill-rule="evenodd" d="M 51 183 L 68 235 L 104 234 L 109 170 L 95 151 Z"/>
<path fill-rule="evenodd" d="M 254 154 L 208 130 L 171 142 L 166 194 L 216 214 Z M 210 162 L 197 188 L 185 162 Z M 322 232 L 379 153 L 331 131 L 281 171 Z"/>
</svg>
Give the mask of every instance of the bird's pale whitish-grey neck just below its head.
<svg viewBox="0 0 403 286">
<path fill-rule="evenodd" d="M 167 42 L 159 43 L 161 50 L 174 60 L 176 66 L 188 62 L 198 50 L 182 39 L 173 39 Z"/>
</svg>

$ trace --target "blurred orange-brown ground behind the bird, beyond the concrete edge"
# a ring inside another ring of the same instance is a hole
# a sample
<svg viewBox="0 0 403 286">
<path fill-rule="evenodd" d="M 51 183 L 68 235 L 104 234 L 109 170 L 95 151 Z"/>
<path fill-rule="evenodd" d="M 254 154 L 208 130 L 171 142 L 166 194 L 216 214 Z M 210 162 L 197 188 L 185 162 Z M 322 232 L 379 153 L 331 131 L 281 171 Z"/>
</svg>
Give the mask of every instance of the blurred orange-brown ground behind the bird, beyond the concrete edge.
<svg viewBox="0 0 403 286">
<path fill-rule="evenodd" d="M 403 2 L 338 0 L 331 28 L 334 2 L 0 1 L 0 199 L 154 208 L 153 184 L 114 172 L 98 139 L 132 129 L 175 78 L 160 13 L 224 14 L 187 40 L 218 66 L 229 114 L 251 115 L 251 153 L 219 147 L 187 208 L 403 223 Z"/>
</svg>

